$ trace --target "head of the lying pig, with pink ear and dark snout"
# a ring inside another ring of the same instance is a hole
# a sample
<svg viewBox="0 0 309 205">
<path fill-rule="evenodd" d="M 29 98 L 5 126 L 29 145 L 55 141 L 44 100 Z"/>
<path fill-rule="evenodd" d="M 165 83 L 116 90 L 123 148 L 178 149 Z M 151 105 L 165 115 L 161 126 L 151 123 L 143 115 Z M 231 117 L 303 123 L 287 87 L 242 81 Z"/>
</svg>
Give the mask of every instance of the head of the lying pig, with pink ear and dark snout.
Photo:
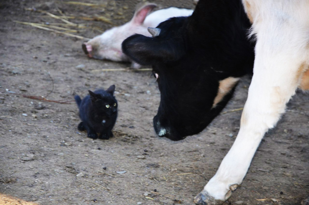
<svg viewBox="0 0 309 205">
<path fill-rule="evenodd" d="M 134 33 L 150 36 L 143 23 L 148 13 L 156 6 L 156 4 L 151 3 L 138 8 L 133 18 L 126 24 L 111 28 L 103 34 L 83 43 L 82 48 L 84 52 L 90 58 L 129 61 L 129 58 L 122 53 L 121 43 L 125 38 Z"/>
</svg>

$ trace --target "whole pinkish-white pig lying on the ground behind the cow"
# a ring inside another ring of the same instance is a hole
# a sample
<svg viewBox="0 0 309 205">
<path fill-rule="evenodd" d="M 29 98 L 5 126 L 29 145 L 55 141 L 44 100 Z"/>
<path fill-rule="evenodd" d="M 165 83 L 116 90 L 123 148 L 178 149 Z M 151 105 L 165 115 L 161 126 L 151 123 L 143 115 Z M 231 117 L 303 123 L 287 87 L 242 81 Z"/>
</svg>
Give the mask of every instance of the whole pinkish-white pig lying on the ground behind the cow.
<svg viewBox="0 0 309 205">
<path fill-rule="evenodd" d="M 160 9 L 148 15 L 156 4 L 149 3 L 137 9 L 133 18 L 122 26 L 111 28 L 99 36 L 94 37 L 86 43 L 82 48 L 89 58 L 108 59 L 112 61 L 131 61 L 121 51 L 121 43 L 127 37 L 138 33 L 145 36 L 151 36 L 148 27 L 157 27 L 159 23 L 176 16 L 189 16 L 193 10 L 182 9 L 177 7 L 169 7 Z M 139 68 L 140 65 L 132 63 L 133 68 Z"/>
</svg>

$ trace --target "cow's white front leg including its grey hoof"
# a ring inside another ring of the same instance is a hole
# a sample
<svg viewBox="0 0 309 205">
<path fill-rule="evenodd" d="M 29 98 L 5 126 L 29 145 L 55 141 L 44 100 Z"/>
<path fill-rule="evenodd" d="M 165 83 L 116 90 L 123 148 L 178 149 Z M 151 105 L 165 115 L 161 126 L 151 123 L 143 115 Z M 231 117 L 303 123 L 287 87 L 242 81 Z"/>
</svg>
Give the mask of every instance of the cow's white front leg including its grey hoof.
<svg viewBox="0 0 309 205">
<path fill-rule="evenodd" d="M 242 183 L 261 139 L 284 113 L 304 72 L 307 51 L 293 47 L 298 43 L 298 33 L 287 36 L 283 31 L 282 35 L 273 35 L 277 31 L 269 28 L 257 34 L 254 74 L 239 133 L 214 177 L 195 197 L 199 205 L 222 204 Z"/>
</svg>

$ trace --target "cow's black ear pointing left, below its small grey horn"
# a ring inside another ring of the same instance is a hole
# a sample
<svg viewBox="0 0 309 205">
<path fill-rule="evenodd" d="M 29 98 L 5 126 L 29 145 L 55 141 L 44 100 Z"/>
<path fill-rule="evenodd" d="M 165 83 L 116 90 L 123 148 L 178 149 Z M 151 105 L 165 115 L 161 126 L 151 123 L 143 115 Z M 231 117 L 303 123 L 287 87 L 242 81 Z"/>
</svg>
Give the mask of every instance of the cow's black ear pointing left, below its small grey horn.
<svg viewBox="0 0 309 205">
<path fill-rule="evenodd" d="M 176 61 L 184 55 L 183 44 L 135 34 L 122 42 L 122 52 L 141 65 Z"/>
</svg>

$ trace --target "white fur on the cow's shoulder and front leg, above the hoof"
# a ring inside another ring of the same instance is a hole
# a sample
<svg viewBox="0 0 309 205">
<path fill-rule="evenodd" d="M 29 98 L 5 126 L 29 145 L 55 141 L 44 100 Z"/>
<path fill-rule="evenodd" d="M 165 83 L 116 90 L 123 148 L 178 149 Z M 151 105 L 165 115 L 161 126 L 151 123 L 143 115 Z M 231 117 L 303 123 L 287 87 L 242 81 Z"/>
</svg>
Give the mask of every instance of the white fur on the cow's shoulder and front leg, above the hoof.
<svg viewBox="0 0 309 205">
<path fill-rule="evenodd" d="M 241 184 L 265 132 L 273 128 L 295 94 L 301 65 L 309 64 L 308 0 L 243 0 L 256 34 L 255 62 L 236 140 L 204 187 L 225 201 Z M 249 14 L 250 13 L 250 14 Z"/>
</svg>

